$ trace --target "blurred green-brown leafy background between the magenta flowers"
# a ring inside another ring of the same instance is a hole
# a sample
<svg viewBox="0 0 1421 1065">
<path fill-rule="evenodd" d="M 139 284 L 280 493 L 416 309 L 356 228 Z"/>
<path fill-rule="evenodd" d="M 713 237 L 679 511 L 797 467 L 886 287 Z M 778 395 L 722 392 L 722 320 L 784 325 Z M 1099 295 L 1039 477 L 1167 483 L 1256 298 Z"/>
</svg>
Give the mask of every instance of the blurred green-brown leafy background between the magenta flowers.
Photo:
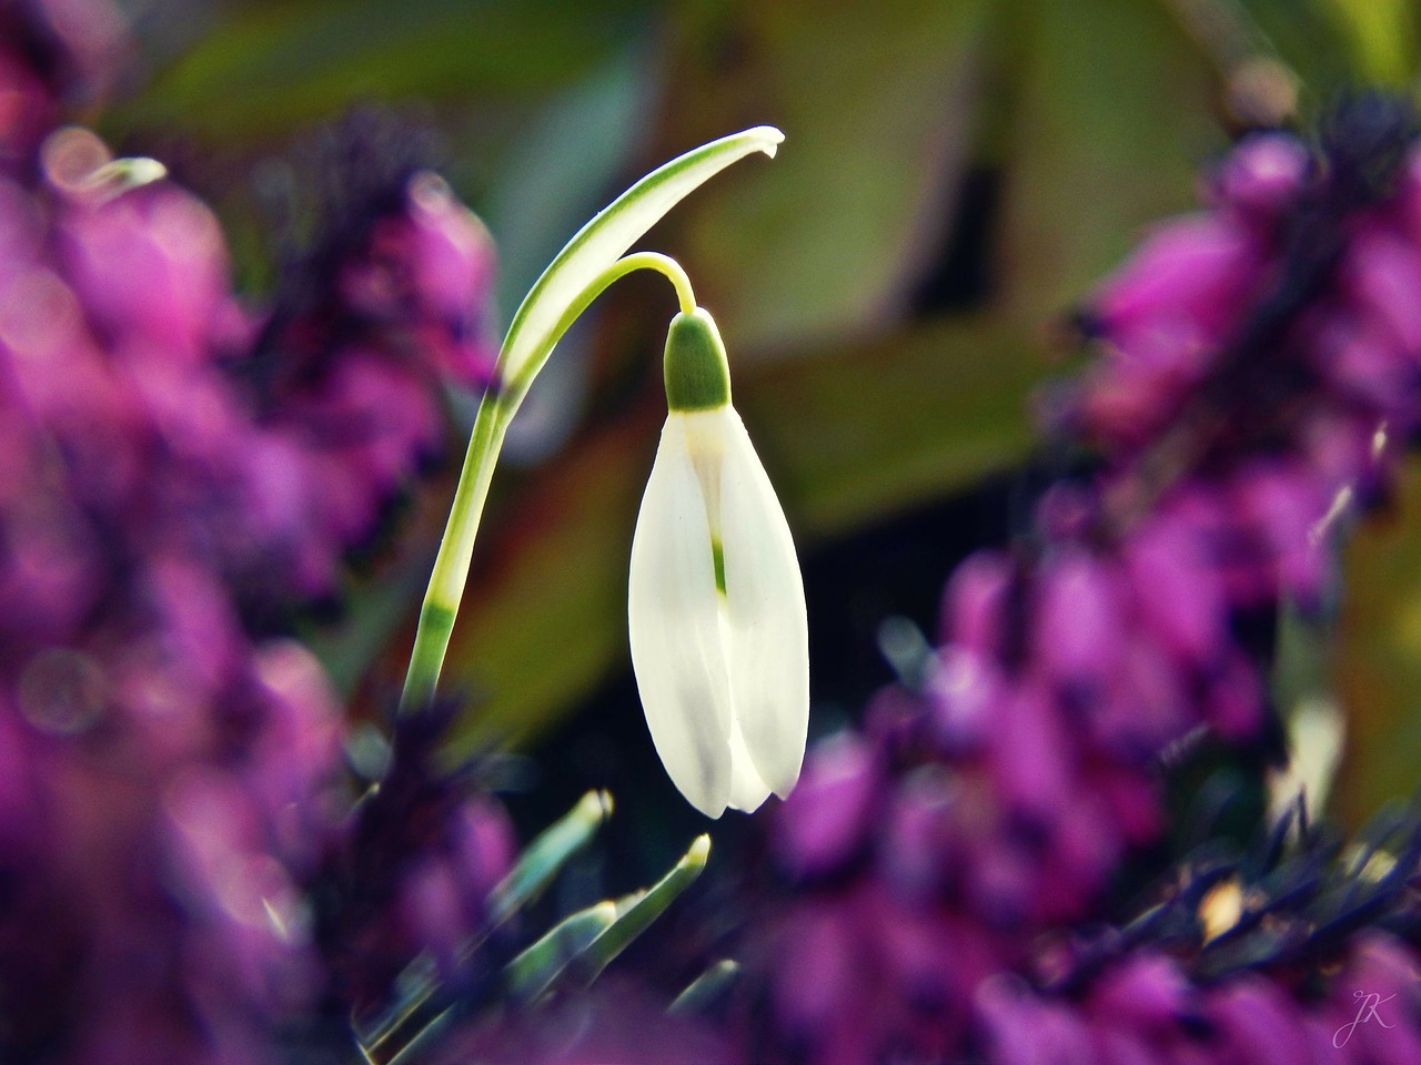
<svg viewBox="0 0 1421 1065">
<path fill-rule="evenodd" d="M 497 244 L 503 322 L 631 179 L 725 132 L 784 129 L 773 163 L 716 179 L 642 246 L 678 257 L 720 322 L 799 537 L 818 734 L 934 638 L 955 559 L 1023 520 L 1017 500 L 1057 462 L 1033 403 L 1071 369 L 1091 284 L 1196 203 L 1199 168 L 1236 135 L 1306 124 L 1361 85 L 1415 92 L 1421 53 L 1414 0 L 121 6 L 139 54 L 92 122 L 215 206 L 253 297 L 274 284 L 273 231 L 303 224 L 273 206 L 290 159 L 352 105 L 436 131 L 442 173 Z M 703 825 L 655 760 L 625 648 L 674 310 L 637 277 L 563 342 L 496 479 L 445 673 L 456 753 L 504 753 L 489 772 L 524 838 L 590 787 L 617 795 L 588 899 L 655 876 Z M 466 427 L 472 398 L 450 400 Z M 306 622 L 371 728 L 452 476 L 406 498 L 398 535 Z M 1324 721 L 1346 706 L 1333 808 L 1349 824 L 1415 785 L 1418 521 L 1412 476 L 1353 540 L 1340 608 L 1287 629 L 1280 690 Z"/>
</svg>

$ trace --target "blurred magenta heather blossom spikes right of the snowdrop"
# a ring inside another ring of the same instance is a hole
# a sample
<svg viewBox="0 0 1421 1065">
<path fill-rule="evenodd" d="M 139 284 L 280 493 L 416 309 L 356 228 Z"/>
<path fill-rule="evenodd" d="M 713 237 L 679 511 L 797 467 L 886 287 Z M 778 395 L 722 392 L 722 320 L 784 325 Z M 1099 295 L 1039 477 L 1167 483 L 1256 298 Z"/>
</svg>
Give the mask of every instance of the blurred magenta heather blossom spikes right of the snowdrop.
<svg viewBox="0 0 1421 1065">
<path fill-rule="evenodd" d="M 1421 422 L 1405 114 L 1364 98 L 1317 149 L 1245 139 L 1081 324 L 1098 358 L 1044 410 L 1091 471 L 956 571 L 922 683 L 821 744 L 779 811 L 786 886 L 746 940 L 752 1058 L 1330 1061 L 1317 1048 L 1363 990 L 1395 995 L 1397 1030 L 1358 1025 L 1333 1054 L 1411 1061 L 1421 953 L 1381 932 L 1319 947 L 1322 985 L 1262 964 L 1205 977 L 1198 936 L 1069 994 L 1057 971 L 1061 941 L 1121 920 L 1108 889 L 1162 839 L 1168 758 L 1276 743 L 1258 618 L 1330 591 L 1340 527 Z"/>
</svg>

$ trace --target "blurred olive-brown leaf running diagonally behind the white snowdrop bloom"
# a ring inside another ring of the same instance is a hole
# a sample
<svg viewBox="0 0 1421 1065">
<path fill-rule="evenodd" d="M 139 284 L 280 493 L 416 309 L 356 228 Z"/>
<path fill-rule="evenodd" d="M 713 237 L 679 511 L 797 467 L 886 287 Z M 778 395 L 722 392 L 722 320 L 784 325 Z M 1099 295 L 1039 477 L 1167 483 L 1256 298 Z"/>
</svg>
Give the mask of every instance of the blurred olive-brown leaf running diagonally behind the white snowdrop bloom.
<svg viewBox="0 0 1421 1065">
<path fill-rule="evenodd" d="M 791 525 L 837 534 L 1019 462 L 1025 396 L 1047 369 L 1027 352 L 989 321 L 942 320 L 736 373 L 736 406 Z M 648 403 L 580 442 L 480 540 L 445 666 L 446 683 L 487 696 L 460 746 L 530 738 L 625 656 L 631 534 L 662 417 Z"/>
</svg>

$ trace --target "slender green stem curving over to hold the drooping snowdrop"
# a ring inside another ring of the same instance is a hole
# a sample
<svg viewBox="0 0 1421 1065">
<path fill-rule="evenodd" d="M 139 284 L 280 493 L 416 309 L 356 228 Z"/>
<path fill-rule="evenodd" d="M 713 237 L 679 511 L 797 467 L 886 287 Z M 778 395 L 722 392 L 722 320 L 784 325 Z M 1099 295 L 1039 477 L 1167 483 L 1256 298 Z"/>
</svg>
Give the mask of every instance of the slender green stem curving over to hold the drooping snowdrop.
<svg viewBox="0 0 1421 1065">
<path fill-rule="evenodd" d="M 433 572 L 429 575 L 423 605 L 419 608 L 415 646 L 409 653 L 405 690 L 399 697 L 401 713 L 423 709 L 435 696 L 439 672 L 443 669 L 445 653 L 449 649 L 449 638 L 453 633 L 453 622 L 459 613 L 459 602 L 463 599 L 463 586 L 469 579 L 473 540 L 479 531 L 479 520 L 483 517 L 483 504 L 489 497 L 493 467 L 499 462 L 503 437 L 513 415 L 517 413 L 523 398 L 533 385 L 533 378 L 543 369 L 563 334 L 608 285 L 634 270 L 655 270 L 662 274 L 675 287 L 681 311 L 689 314 L 695 310 L 696 298 L 691 288 L 691 278 L 686 277 L 686 271 L 676 260 L 657 251 L 635 251 L 618 258 L 577 294 L 553 329 L 537 345 L 536 354 L 529 359 L 527 369 L 514 381 L 503 382 L 502 389 L 497 388 L 499 371 L 504 361 L 503 352 L 500 352 L 499 365 L 495 366 L 496 385 L 483 393 L 479 413 L 473 419 L 473 432 L 469 436 L 469 449 L 463 456 L 463 469 L 459 471 L 459 486 L 453 493 L 449 521 L 445 525 L 443 540 L 439 542 L 439 554 L 435 557 Z"/>
</svg>

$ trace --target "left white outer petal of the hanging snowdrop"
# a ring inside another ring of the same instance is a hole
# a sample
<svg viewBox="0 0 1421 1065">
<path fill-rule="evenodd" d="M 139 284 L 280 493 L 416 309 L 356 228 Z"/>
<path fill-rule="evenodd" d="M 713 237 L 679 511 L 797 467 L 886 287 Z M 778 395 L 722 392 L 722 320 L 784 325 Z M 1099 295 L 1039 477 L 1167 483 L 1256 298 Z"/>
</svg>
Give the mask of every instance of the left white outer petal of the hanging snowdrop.
<svg viewBox="0 0 1421 1065">
<path fill-rule="evenodd" d="M 657 754 L 706 816 L 730 798 L 730 680 L 710 527 L 682 419 L 661 430 L 637 515 L 627 625 L 637 689 Z"/>
</svg>

